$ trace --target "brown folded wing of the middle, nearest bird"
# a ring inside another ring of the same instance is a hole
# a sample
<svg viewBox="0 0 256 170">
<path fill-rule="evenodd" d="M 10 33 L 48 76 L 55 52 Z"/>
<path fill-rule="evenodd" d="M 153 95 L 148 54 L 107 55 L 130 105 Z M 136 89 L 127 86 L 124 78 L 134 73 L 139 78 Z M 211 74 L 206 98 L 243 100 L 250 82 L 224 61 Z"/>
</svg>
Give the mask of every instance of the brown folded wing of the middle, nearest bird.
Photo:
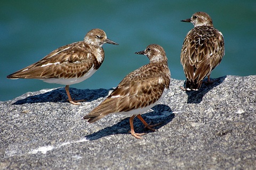
<svg viewBox="0 0 256 170">
<path fill-rule="evenodd" d="M 169 74 L 163 74 L 162 71 L 155 70 L 159 67 L 149 65 L 127 75 L 108 98 L 84 116 L 84 119 L 89 119 L 88 122 L 92 123 L 108 114 L 144 108 L 159 100 L 164 88 L 169 88 L 170 71 Z"/>
</svg>

